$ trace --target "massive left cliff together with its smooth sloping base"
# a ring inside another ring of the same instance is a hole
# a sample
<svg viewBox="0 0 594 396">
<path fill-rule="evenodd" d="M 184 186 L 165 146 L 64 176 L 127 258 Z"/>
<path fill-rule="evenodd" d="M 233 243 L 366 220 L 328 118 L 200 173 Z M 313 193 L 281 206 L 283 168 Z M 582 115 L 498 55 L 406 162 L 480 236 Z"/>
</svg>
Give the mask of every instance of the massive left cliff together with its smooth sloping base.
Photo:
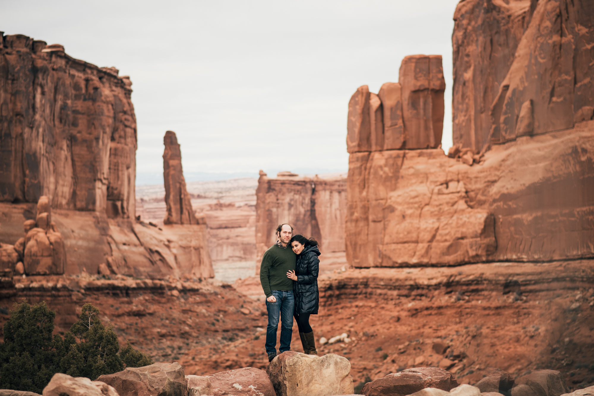
<svg viewBox="0 0 594 396">
<path fill-rule="evenodd" d="M 39 222 L 37 201 L 48 196 L 67 253 L 52 272 L 214 276 L 206 225 L 156 229 L 134 219 L 129 78 L 59 44 L 0 39 L 0 241 L 26 237 L 23 223 Z"/>
</svg>

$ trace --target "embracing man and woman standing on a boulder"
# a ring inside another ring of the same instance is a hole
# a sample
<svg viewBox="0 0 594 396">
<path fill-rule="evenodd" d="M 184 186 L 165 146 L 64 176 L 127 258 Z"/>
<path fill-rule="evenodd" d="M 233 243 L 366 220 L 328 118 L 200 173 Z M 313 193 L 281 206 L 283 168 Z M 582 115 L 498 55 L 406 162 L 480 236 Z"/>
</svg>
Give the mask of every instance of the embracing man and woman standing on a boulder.
<svg viewBox="0 0 594 396">
<path fill-rule="evenodd" d="M 268 362 L 276 356 L 276 330 L 280 327 L 280 353 L 290 350 L 293 317 L 299 328 L 303 350 L 317 355 L 314 331 L 309 315 L 318 313 L 318 271 L 320 250 L 314 238 L 292 235 L 293 227 L 281 224 L 276 228 L 277 241 L 262 257 L 260 282 L 266 294 L 268 327 L 266 353 Z"/>
</svg>

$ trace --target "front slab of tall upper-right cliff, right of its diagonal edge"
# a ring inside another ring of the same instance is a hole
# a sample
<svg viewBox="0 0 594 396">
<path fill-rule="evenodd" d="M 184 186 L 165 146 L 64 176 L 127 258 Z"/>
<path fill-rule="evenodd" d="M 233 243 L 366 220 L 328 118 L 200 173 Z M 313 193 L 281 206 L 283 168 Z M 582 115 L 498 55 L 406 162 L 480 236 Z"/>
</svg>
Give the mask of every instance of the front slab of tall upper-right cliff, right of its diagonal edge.
<svg viewBox="0 0 594 396">
<path fill-rule="evenodd" d="M 594 115 L 594 5 L 536 4 L 491 106 L 492 141 L 572 128 Z"/>
</svg>

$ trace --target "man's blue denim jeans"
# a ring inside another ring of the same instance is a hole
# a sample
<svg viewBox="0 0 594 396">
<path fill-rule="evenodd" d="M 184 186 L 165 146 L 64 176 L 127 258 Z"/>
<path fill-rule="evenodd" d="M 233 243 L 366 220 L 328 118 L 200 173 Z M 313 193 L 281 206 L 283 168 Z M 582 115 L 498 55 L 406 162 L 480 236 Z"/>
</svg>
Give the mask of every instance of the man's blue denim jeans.
<svg viewBox="0 0 594 396">
<path fill-rule="evenodd" d="M 272 290 L 276 302 L 266 301 L 268 327 L 266 328 L 266 353 L 276 353 L 276 329 L 280 325 L 280 353 L 291 349 L 293 335 L 293 311 L 295 296 L 293 290 Z"/>
</svg>

